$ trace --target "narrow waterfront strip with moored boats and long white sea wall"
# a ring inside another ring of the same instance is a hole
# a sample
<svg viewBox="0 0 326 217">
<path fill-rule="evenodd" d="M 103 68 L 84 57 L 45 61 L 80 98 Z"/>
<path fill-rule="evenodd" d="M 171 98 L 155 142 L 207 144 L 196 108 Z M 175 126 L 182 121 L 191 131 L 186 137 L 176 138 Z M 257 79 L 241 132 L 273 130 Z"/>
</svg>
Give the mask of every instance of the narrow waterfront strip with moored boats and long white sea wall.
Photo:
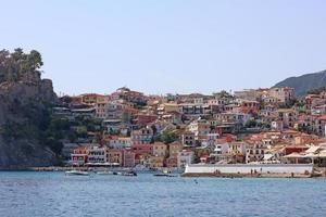
<svg viewBox="0 0 326 217">
<path fill-rule="evenodd" d="M 77 175 L 153 174 L 156 177 L 211 178 L 326 178 L 325 168 L 313 164 L 189 164 L 185 170 L 106 168 L 106 167 L 33 167 L 30 171 L 63 171 Z"/>
</svg>

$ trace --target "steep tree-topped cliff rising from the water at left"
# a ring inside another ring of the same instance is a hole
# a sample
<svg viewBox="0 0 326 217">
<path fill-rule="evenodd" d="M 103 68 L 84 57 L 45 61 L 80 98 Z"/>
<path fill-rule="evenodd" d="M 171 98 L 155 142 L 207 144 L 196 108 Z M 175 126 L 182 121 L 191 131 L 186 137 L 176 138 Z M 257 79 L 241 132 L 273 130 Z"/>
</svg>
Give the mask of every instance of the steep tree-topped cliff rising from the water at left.
<svg viewBox="0 0 326 217">
<path fill-rule="evenodd" d="M 57 95 L 52 81 L 41 79 L 41 65 L 37 51 L 0 51 L 0 169 L 55 162 L 54 149 L 43 138 Z"/>
</svg>

